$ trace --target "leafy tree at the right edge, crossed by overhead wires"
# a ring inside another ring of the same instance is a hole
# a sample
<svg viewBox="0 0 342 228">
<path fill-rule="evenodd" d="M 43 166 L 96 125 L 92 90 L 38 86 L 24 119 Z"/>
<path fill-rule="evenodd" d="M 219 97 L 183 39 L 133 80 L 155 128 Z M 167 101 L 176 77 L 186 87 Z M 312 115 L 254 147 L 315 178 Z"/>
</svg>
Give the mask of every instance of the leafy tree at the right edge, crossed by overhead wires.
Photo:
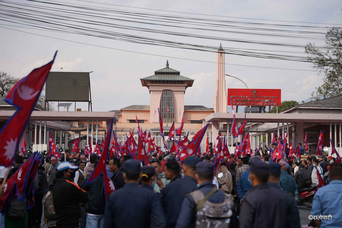
<svg viewBox="0 0 342 228">
<path fill-rule="evenodd" d="M 315 100 L 342 95 L 342 28 L 333 27 L 325 38 L 323 48 L 310 42 L 305 46 L 308 60 L 323 75 L 323 84 L 311 94 Z"/>
</svg>

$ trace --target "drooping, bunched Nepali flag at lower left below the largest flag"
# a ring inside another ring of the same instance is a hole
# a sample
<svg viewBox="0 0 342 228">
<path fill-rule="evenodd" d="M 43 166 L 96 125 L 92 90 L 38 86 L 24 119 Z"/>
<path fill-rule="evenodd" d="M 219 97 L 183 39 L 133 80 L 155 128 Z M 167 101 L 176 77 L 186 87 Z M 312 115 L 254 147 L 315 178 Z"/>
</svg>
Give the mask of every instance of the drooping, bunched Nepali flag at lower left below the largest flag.
<svg viewBox="0 0 342 228">
<path fill-rule="evenodd" d="M 38 152 L 32 155 L 19 167 L 19 169 L 4 183 L 4 193 L 0 198 L 0 212 L 7 210 L 14 197 L 23 201 L 25 194 L 32 195 L 32 182 L 37 174 L 37 166 L 41 163 Z"/>
</svg>

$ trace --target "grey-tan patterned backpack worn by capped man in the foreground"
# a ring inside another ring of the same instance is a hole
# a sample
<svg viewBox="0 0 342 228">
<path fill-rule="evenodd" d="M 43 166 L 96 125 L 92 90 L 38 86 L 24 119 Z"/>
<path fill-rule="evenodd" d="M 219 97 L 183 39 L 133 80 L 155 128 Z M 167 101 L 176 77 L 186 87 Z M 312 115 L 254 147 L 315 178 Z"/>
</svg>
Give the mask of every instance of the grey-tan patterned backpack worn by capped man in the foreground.
<svg viewBox="0 0 342 228">
<path fill-rule="evenodd" d="M 196 203 L 196 227 L 221 228 L 229 226 L 230 217 L 233 215 L 233 197 L 224 193 L 224 201 L 222 203 L 212 203 L 208 199 L 216 191 L 218 190 L 213 188 L 206 196 L 200 190 L 193 191 L 189 194 L 194 198 Z"/>
</svg>

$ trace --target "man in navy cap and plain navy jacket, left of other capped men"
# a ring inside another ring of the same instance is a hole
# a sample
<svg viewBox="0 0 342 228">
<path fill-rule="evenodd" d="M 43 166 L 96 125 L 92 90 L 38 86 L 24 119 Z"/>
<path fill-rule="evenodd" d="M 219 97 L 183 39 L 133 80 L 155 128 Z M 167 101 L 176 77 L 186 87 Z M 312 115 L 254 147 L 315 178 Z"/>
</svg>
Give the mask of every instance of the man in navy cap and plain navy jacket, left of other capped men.
<svg viewBox="0 0 342 228">
<path fill-rule="evenodd" d="M 139 186 L 140 162 L 123 162 L 122 174 L 126 184 L 109 195 L 104 227 L 150 227 L 151 215 L 156 227 L 166 227 L 165 214 L 157 195 Z"/>
</svg>

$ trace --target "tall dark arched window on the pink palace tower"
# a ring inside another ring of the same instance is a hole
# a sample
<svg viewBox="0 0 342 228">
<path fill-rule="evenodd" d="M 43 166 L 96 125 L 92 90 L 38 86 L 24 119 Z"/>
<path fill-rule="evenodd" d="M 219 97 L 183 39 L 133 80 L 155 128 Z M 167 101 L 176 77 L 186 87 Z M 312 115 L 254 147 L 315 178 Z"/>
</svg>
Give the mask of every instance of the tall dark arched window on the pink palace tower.
<svg viewBox="0 0 342 228">
<path fill-rule="evenodd" d="M 164 123 L 172 123 L 174 121 L 174 103 L 171 90 L 163 90 L 160 98 L 159 111 Z"/>
</svg>

